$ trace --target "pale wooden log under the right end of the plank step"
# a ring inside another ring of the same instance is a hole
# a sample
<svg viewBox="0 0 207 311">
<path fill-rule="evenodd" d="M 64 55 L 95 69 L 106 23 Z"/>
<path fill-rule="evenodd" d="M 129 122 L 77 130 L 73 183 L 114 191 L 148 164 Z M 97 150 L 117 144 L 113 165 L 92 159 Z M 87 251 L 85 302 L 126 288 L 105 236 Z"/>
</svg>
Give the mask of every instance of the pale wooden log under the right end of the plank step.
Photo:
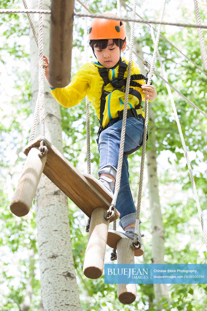
<svg viewBox="0 0 207 311">
<path fill-rule="evenodd" d="M 91 215 L 91 223 L 88 233 L 83 273 L 90 279 L 97 279 L 103 273 L 106 241 L 109 228 L 109 220 L 105 220 L 106 210 L 97 207 Z"/>
</svg>

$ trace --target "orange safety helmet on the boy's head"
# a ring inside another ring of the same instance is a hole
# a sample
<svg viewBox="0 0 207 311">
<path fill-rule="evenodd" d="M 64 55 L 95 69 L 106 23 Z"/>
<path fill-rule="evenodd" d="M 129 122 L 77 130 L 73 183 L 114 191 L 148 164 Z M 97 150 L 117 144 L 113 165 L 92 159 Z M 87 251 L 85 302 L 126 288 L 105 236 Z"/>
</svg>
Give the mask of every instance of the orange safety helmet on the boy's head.
<svg viewBox="0 0 207 311">
<path fill-rule="evenodd" d="M 115 14 L 101 14 L 101 16 L 116 17 Z M 126 38 L 124 22 L 106 18 L 94 18 L 89 29 L 89 40 L 122 39 Z"/>
</svg>

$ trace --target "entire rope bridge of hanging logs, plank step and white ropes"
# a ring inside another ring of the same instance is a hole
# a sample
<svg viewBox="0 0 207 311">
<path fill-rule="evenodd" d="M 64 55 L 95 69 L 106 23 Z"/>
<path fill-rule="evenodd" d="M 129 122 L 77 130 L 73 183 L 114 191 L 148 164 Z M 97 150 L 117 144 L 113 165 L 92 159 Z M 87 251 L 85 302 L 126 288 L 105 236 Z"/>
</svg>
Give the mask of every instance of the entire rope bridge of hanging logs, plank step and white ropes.
<svg viewBox="0 0 207 311">
<path fill-rule="evenodd" d="M 121 0 L 123 1 L 123 0 Z M 146 137 L 147 137 L 147 123 L 148 123 L 148 100 L 145 101 L 145 123 L 144 123 L 144 135 L 143 135 L 143 145 L 142 145 L 142 159 L 141 159 L 141 169 L 140 169 L 140 179 L 139 179 L 139 189 L 138 189 L 138 198 L 137 198 L 137 213 L 136 213 L 136 227 L 135 227 L 135 237 L 133 242 L 129 239 L 116 238 L 113 235 L 113 231 L 116 230 L 116 220 L 119 218 L 120 214 L 116 210 L 116 200 L 120 188 L 121 180 L 121 169 L 123 163 L 124 155 L 124 140 L 125 140 L 125 128 L 126 128 L 126 118 L 127 118 L 127 105 L 128 105 L 128 95 L 130 90 L 130 76 L 131 76 L 131 66 L 132 66 L 132 55 L 135 54 L 145 65 L 148 72 L 148 81 L 147 85 L 150 85 L 151 78 L 153 74 L 157 75 L 166 83 L 168 90 L 170 102 L 173 107 L 173 112 L 175 115 L 176 123 L 178 126 L 178 131 L 181 137 L 181 142 L 184 150 L 184 155 L 187 161 L 187 167 L 190 174 L 190 179 L 192 183 L 192 188 L 194 191 L 194 196 L 196 200 L 196 205 L 200 217 L 201 227 L 204 235 L 204 241 L 207 248 L 207 234 L 204 226 L 202 211 L 200 208 L 200 202 L 198 198 L 198 193 L 196 189 L 195 180 L 193 178 L 192 168 L 190 160 L 187 153 L 187 147 L 184 141 L 184 136 L 182 133 L 180 121 L 178 118 L 176 106 L 173 100 L 173 95 L 171 89 L 173 89 L 178 95 L 180 95 L 184 100 L 186 100 L 190 105 L 192 105 L 198 112 L 204 115 L 207 118 L 207 114 L 197 107 L 194 103 L 187 99 L 180 91 L 178 91 L 172 84 L 169 83 L 167 74 L 164 70 L 164 66 L 160 57 L 158 50 L 160 36 L 163 39 L 166 39 L 161 34 L 162 25 L 172 25 L 179 27 L 191 27 L 197 28 L 199 33 L 199 42 L 201 55 L 204 63 L 204 69 L 207 69 L 207 57 L 206 51 L 203 43 L 202 29 L 206 29 L 207 26 L 201 25 L 200 16 L 198 11 L 197 1 L 194 0 L 195 11 L 196 11 L 196 24 L 182 24 L 182 23 L 169 23 L 164 22 L 164 11 L 166 0 L 163 2 L 162 12 L 160 16 L 160 21 L 150 21 L 144 20 L 141 16 L 136 13 L 137 1 L 133 0 L 133 9 L 131 18 L 121 17 L 123 21 L 131 21 L 131 37 L 129 45 L 129 63 L 128 63 L 128 75 L 126 81 L 126 91 L 125 91 L 125 101 L 124 101 L 124 112 L 123 112 L 123 123 L 121 131 L 121 141 L 119 149 L 119 160 L 118 168 L 116 175 L 115 191 L 112 196 L 110 193 L 106 192 L 106 189 L 103 188 L 100 183 L 91 175 L 91 161 L 90 161 L 90 112 L 89 112 L 89 100 L 86 97 L 86 124 L 87 124 L 87 174 L 81 174 L 73 165 L 69 163 L 68 160 L 45 138 L 44 130 L 44 75 L 45 68 L 43 68 L 43 14 L 51 14 L 51 43 L 50 43 L 50 83 L 55 87 L 64 87 L 67 86 L 70 81 L 70 70 L 71 70 L 71 50 L 72 50 L 72 27 L 73 27 L 73 18 L 84 17 L 85 19 L 85 55 L 88 62 L 88 43 L 86 40 L 88 34 L 88 25 L 87 18 L 106 18 L 104 16 L 93 14 L 87 7 L 87 1 L 84 0 L 82 3 L 80 0 L 77 0 L 81 6 L 84 8 L 84 13 L 75 13 L 74 12 L 74 2 L 68 1 L 65 3 L 64 10 L 61 10 L 61 1 L 52 0 L 51 1 L 51 10 L 43 10 L 43 0 L 39 0 L 39 6 L 37 10 L 31 10 L 27 7 L 26 1 L 23 0 L 25 9 L 0 9 L 0 14 L 16 14 L 16 13 L 26 13 L 29 19 L 29 23 L 36 41 L 38 51 L 39 51 L 39 61 L 38 61 L 38 70 L 39 70 L 39 90 L 37 96 L 37 102 L 34 110 L 34 120 L 29 137 L 29 145 L 25 149 L 25 154 L 27 159 L 25 162 L 23 174 L 20 178 L 19 184 L 17 186 L 16 192 L 11 202 L 11 211 L 17 216 L 24 216 L 29 212 L 29 209 L 32 205 L 39 179 L 41 174 L 44 173 L 51 181 L 60 188 L 63 193 L 65 193 L 88 217 L 87 231 L 88 234 L 88 244 L 85 253 L 85 260 L 83 265 L 83 272 L 85 276 L 96 279 L 102 275 L 103 265 L 104 265 L 104 256 L 106 251 L 106 244 L 113 248 L 111 254 L 111 260 L 118 259 L 118 263 L 129 263 L 134 262 L 134 256 L 140 256 L 141 243 L 138 241 L 138 232 L 139 232 L 139 220 L 140 220 L 140 207 L 141 207 L 141 198 L 142 198 L 142 184 L 143 184 L 143 175 L 144 175 L 144 161 L 146 153 Z M 117 5 L 118 14 L 120 13 L 120 2 Z M 61 13 L 60 13 L 61 10 Z M 34 25 L 30 16 L 30 13 L 39 14 L 39 30 L 38 35 L 34 29 Z M 64 14 L 67 18 L 62 18 L 61 14 Z M 140 19 L 136 19 L 136 15 Z M 110 17 L 107 17 L 110 19 Z M 114 17 L 112 19 L 115 19 Z M 118 19 L 120 20 L 120 19 Z M 60 31 L 64 21 L 63 28 L 65 31 Z M 142 59 L 137 53 L 133 51 L 133 40 L 134 40 L 134 28 L 135 23 L 147 24 L 151 30 L 152 40 L 154 42 L 154 52 L 152 56 L 151 64 L 146 60 Z M 152 25 L 158 25 L 156 30 Z M 157 32 L 156 38 L 154 31 Z M 171 44 L 173 47 L 174 44 L 166 41 Z M 175 47 L 176 48 L 176 47 Z M 177 49 L 177 48 L 176 48 Z M 179 53 L 182 53 L 177 49 Z M 63 55 L 63 57 L 60 57 Z M 182 53 L 182 55 L 184 55 Z M 159 59 L 160 67 L 162 70 L 163 77 L 155 70 L 155 60 L 156 56 Z M 184 55 L 198 70 L 207 75 L 206 72 L 200 68 L 195 62 Z M 40 113 L 40 124 L 41 124 L 41 137 L 34 138 L 35 128 L 37 125 L 38 114 Z M 68 180 L 73 180 L 73 183 L 68 187 Z M 28 193 L 28 189 L 32 191 Z M 84 197 L 82 193 L 84 192 Z M 113 230 L 108 231 L 109 223 L 113 221 Z M 100 244 L 100 239 L 102 244 Z M 117 254 L 116 254 L 117 249 Z M 123 253 L 123 249 L 128 249 L 127 252 Z M 93 256 L 96 253 L 97 256 Z M 126 285 L 118 285 L 118 297 L 119 300 L 123 303 L 131 303 L 136 298 L 136 286 L 131 284 L 131 287 L 127 288 Z"/>
</svg>

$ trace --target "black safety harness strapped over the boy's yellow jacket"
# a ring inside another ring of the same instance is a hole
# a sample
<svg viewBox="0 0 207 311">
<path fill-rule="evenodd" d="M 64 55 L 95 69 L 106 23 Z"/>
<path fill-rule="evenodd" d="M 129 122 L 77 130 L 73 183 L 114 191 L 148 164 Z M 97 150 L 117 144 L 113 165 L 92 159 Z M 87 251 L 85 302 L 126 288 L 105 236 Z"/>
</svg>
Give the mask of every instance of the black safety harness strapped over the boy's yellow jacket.
<svg viewBox="0 0 207 311">
<path fill-rule="evenodd" d="M 99 74 L 100 74 L 100 76 L 101 76 L 101 78 L 103 79 L 103 82 L 104 82 L 103 85 L 102 85 L 102 88 L 101 88 L 102 94 L 101 94 L 101 99 L 100 99 L 101 100 L 101 104 L 100 104 L 100 120 L 99 120 L 100 127 L 99 127 L 99 130 L 98 130 L 98 139 L 99 139 L 99 135 L 101 134 L 101 132 L 104 131 L 104 128 L 102 127 L 102 123 L 103 123 L 103 117 L 104 117 L 103 114 L 104 114 L 105 104 L 106 104 L 106 96 L 109 95 L 110 93 L 114 92 L 115 90 L 119 90 L 119 91 L 124 92 L 124 93 L 126 92 L 126 82 L 127 82 L 127 79 L 124 79 L 124 73 L 127 70 L 127 67 L 128 67 L 128 65 L 126 64 L 126 62 L 125 61 L 121 61 L 119 63 L 118 77 L 114 78 L 111 81 L 109 80 L 107 68 L 102 67 L 102 68 L 98 69 L 98 72 L 99 72 Z M 134 81 L 134 80 L 145 80 L 146 83 L 147 83 L 148 78 L 145 77 L 142 74 L 132 75 L 130 77 L 130 86 L 141 87 L 142 85 L 140 83 Z M 104 90 L 104 87 L 107 86 L 107 84 L 109 84 L 109 83 L 114 88 L 112 92 L 108 92 L 108 91 Z M 123 86 L 124 86 L 124 88 L 122 88 Z M 141 106 L 142 95 L 137 90 L 134 90 L 133 87 L 131 87 L 129 89 L 129 94 L 137 97 L 138 104 L 137 104 L 137 106 L 135 108 L 131 108 L 131 109 L 127 110 L 127 118 L 134 117 L 137 120 L 139 118 L 141 118 L 142 121 L 143 121 L 143 124 L 144 124 L 145 119 L 142 116 L 142 106 Z M 119 116 L 119 120 L 123 119 L 124 110 L 117 111 L 117 113 L 118 113 L 118 116 Z M 97 139 L 97 142 L 98 142 L 98 139 Z M 148 139 L 148 134 L 147 134 L 147 139 Z M 125 155 L 129 155 L 129 154 L 133 153 L 134 151 L 138 150 L 141 146 L 142 145 L 137 146 L 137 148 L 132 149 L 130 151 L 124 152 L 124 154 Z"/>
</svg>

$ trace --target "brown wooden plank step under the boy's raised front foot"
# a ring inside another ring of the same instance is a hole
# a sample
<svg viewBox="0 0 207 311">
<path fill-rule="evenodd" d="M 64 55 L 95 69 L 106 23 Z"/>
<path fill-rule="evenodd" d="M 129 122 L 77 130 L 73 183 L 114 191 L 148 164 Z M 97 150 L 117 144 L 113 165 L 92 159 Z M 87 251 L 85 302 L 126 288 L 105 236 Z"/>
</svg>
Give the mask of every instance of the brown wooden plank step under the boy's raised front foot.
<svg viewBox="0 0 207 311">
<path fill-rule="evenodd" d="M 43 173 L 69 197 L 89 218 L 92 211 L 97 207 L 109 209 L 112 195 L 105 191 L 105 188 L 97 179 L 89 174 L 81 174 L 79 171 L 61 154 L 50 142 L 47 144 L 47 161 Z M 25 149 L 28 155 L 32 147 L 40 145 L 40 137 L 31 142 Z M 115 209 L 114 218 L 110 222 L 119 218 L 120 214 Z"/>
</svg>

